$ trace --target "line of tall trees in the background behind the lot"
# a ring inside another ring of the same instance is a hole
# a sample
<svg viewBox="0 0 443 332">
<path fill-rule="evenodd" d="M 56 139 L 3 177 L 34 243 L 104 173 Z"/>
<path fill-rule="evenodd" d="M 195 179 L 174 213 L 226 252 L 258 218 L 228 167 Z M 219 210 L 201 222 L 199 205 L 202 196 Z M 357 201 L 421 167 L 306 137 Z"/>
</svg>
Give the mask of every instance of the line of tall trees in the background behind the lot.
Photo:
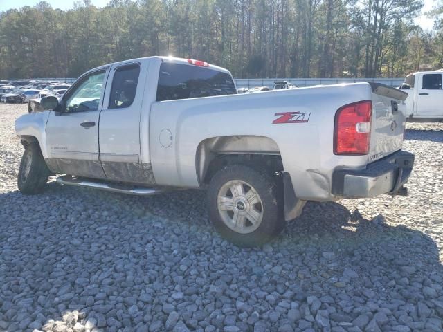
<svg viewBox="0 0 443 332">
<path fill-rule="evenodd" d="M 90 0 L 0 12 L 0 78 L 78 77 L 150 55 L 202 59 L 237 78 L 402 77 L 443 67 L 443 23 L 422 0 Z"/>
</svg>

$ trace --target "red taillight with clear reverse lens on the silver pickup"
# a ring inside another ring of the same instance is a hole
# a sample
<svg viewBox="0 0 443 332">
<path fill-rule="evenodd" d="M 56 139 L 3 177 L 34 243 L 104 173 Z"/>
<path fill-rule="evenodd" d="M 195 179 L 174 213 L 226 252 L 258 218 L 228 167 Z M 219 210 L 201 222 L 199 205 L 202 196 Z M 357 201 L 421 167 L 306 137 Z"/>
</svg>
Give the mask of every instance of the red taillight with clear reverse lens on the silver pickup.
<svg viewBox="0 0 443 332">
<path fill-rule="evenodd" d="M 338 109 L 334 125 L 334 154 L 368 154 L 372 102 L 354 102 Z"/>
</svg>

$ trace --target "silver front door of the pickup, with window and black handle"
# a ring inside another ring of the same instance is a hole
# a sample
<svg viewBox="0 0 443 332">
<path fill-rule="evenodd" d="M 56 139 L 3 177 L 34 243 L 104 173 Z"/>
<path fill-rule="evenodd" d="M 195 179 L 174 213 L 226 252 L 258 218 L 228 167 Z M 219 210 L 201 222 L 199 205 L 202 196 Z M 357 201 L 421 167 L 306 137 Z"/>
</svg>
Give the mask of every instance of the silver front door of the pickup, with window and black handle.
<svg viewBox="0 0 443 332">
<path fill-rule="evenodd" d="M 64 95 L 46 124 L 48 167 L 56 173 L 105 178 L 99 159 L 98 120 L 108 68 L 87 73 Z"/>
</svg>

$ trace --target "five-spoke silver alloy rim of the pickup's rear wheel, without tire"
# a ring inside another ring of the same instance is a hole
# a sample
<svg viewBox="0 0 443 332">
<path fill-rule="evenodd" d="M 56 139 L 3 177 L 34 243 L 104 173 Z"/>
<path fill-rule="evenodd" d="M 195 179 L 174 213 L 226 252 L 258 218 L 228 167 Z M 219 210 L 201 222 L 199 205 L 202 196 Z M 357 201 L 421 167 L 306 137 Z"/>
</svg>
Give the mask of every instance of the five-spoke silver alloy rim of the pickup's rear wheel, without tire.
<svg viewBox="0 0 443 332">
<path fill-rule="evenodd" d="M 234 232 L 251 233 L 263 219 L 262 199 L 248 183 L 240 180 L 226 182 L 217 195 L 221 220 Z"/>
</svg>

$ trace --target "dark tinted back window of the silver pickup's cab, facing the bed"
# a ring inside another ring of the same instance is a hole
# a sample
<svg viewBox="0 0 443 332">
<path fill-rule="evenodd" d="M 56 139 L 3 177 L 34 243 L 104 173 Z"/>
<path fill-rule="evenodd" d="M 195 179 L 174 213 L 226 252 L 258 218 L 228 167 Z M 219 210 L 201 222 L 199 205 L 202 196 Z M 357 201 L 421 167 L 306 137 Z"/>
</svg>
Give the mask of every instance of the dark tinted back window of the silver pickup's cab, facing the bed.
<svg viewBox="0 0 443 332">
<path fill-rule="evenodd" d="M 172 62 L 163 62 L 160 66 L 157 102 L 236 93 L 235 84 L 228 73 Z"/>
</svg>

